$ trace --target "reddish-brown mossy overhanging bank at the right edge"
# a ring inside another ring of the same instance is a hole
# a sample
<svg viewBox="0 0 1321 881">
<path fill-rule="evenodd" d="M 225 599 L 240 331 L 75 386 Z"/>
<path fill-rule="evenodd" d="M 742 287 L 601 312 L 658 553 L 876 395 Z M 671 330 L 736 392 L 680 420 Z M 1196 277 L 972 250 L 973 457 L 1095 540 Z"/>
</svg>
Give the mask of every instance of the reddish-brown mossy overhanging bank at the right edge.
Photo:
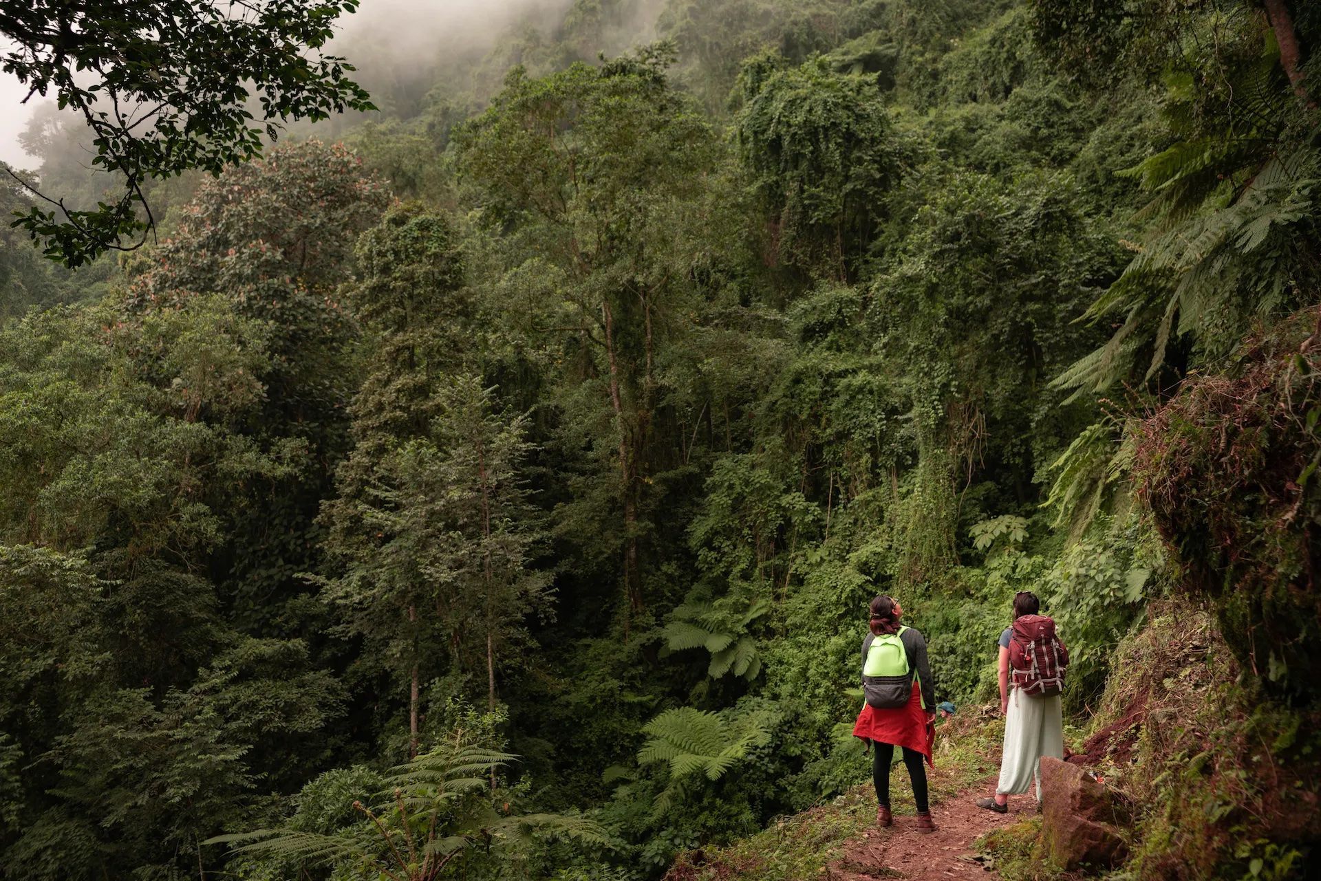
<svg viewBox="0 0 1321 881">
<path fill-rule="evenodd" d="M 1139 495 L 1235 656 L 1275 693 L 1321 693 L 1321 308 L 1250 339 L 1136 427 Z M 1309 335 L 1310 334 L 1310 335 Z"/>
</svg>

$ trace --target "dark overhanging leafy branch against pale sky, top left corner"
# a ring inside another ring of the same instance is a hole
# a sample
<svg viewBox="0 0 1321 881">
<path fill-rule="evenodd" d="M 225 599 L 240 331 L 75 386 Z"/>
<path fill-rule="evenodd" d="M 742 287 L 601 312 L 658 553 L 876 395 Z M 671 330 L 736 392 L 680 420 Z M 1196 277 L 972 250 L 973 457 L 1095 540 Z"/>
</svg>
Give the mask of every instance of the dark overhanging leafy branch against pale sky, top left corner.
<svg viewBox="0 0 1321 881">
<path fill-rule="evenodd" d="M 155 226 L 147 180 L 189 169 L 219 174 L 259 155 L 262 137 L 273 139 L 281 120 L 370 110 L 367 94 L 346 75 L 353 66 L 321 52 L 334 20 L 357 5 L 263 0 L 225 11 L 170 0 L 144 4 L 132 17 L 115 3 L 5 9 L 0 33 L 11 45 L 0 67 L 29 96 L 54 92 L 61 110 L 81 114 L 92 135 L 92 166 L 123 180 L 114 202 L 81 210 L 45 195 L 54 207 L 33 205 L 16 225 L 70 267 L 108 248 L 133 250 Z M 260 123 L 246 107 L 254 94 Z"/>
</svg>

